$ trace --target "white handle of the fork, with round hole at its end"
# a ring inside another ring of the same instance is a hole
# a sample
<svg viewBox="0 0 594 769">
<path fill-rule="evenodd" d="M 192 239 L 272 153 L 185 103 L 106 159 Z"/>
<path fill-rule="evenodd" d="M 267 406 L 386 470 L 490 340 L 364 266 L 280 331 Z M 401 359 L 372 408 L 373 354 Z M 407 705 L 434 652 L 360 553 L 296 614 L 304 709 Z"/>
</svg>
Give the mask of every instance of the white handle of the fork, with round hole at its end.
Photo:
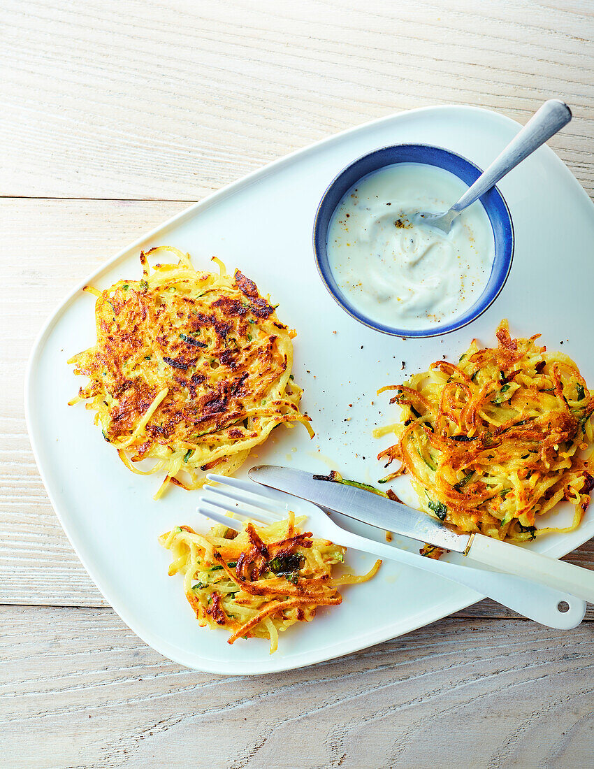
<svg viewBox="0 0 594 769">
<path fill-rule="evenodd" d="M 549 628 L 560 630 L 576 628 L 586 614 L 586 604 L 583 601 L 558 588 L 549 589 L 543 585 L 519 579 L 512 574 L 493 574 L 491 571 L 450 564 L 447 561 L 436 561 L 434 558 L 424 558 L 422 555 L 402 550 L 391 544 L 360 537 L 350 531 L 342 530 L 341 534 L 343 536 L 339 544 L 377 555 L 379 558 L 398 561 L 413 568 L 439 574 L 440 577 L 470 588 L 476 595 L 476 601 L 485 597 L 493 598 L 493 601 L 497 601 L 498 604 L 513 609 L 531 620 L 548 625 Z M 513 546 L 510 545 L 510 547 Z M 557 607 L 561 601 L 569 605 L 569 611 L 562 613 L 558 610 Z"/>
</svg>

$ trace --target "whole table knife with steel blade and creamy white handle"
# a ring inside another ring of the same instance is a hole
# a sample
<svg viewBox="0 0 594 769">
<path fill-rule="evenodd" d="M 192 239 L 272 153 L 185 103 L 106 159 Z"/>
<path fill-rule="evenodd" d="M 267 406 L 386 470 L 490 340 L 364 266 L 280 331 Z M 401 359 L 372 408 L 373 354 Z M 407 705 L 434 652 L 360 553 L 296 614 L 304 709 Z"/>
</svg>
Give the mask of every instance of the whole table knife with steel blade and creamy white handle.
<svg viewBox="0 0 594 769">
<path fill-rule="evenodd" d="M 462 553 L 472 561 L 594 602 L 594 571 L 589 569 L 557 561 L 556 558 L 484 534 L 458 534 L 453 528 L 407 504 L 371 494 L 356 486 L 333 482 L 324 475 L 272 464 L 251 468 L 248 475 L 252 481 L 307 499 L 348 518 Z"/>
</svg>

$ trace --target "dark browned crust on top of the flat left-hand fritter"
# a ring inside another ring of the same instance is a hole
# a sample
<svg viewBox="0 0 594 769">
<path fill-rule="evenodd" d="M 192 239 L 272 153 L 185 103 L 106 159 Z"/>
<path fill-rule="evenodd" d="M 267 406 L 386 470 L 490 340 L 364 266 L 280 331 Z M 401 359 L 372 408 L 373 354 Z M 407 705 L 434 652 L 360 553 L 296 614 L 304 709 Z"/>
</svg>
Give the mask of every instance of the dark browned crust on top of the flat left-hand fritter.
<svg viewBox="0 0 594 769">
<path fill-rule="evenodd" d="M 146 273 L 144 254 L 141 263 Z M 274 308 L 240 271 L 234 280 L 234 295 L 207 291 L 200 300 L 168 287 L 155 293 L 144 279 L 119 281 L 98 298 L 97 345 L 92 355 L 78 356 L 76 372 L 91 379 L 81 398 L 104 390 L 111 398 L 105 439 L 125 441 L 168 388 L 131 461 L 141 461 L 154 444 L 179 449 L 221 431 L 232 441 L 254 437 L 244 421 L 284 375 L 287 359 L 276 335 L 255 341 L 260 321 Z M 126 373 L 131 360 L 134 368 Z M 160 365 L 164 373 L 157 377 Z M 267 415 L 280 422 L 298 414 L 289 411 L 287 404 L 270 403 Z"/>
</svg>

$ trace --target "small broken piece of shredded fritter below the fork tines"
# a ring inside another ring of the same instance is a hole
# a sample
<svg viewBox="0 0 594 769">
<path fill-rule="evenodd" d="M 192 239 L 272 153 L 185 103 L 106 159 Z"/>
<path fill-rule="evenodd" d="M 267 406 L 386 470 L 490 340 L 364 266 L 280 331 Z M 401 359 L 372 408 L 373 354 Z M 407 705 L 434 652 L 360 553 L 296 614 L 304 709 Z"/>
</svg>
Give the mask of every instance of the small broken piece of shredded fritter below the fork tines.
<svg viewBox="0 0 594 769">
<path fill-rule="evenodd" d="M 247 521 L 237 534 L 217 524 L 209 534 L 178 526 L 159 541 L 172 551 L 170 576 L 184 575 L 184 592 L 201 628 L 226 628 L 228 643 L 237 638 L 269 638 L 270 654 L 278 634 L 296 622 L 310 622 L 318 606 L 337 606 L 337 586 L 370 580 L 380 568 L 360 577 L 333 578 L 334 564 L 346 548 L 314 539 L 298 528 L 305 518 L 289 518 L 269 526 Z"/>
</svg>

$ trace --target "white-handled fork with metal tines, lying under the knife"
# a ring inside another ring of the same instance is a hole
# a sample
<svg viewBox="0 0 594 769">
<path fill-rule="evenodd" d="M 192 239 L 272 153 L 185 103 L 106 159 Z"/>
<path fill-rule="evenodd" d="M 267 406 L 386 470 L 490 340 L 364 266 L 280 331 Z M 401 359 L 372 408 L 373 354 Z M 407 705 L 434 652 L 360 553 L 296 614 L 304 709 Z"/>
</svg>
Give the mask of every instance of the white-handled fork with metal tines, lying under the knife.
<svg viewBox="0 0 594 769">
<path fill-rule="evenodd" d="M 254 481 L 240 481 L 237 478 L 211 473 L 207 474 L 207 480 L 210 482 L 202 487 L 197 512 L 204 518 L 210 518 L 234 531 L 241 530 L 241 520 L 272 524 L 286 518 L 290 509 L 297 508 L 299 511 L 307 511 L 307 518 L 310 519 L 316 536 L 462 584 L 473 591 L 469 604 L 485 597 L 493 598 L 526 618 L 559 630 L 576 628 L 586 613 L 584 601 L 545 585 L 501 572 L 495 572 L 496 579 L 493 579 L 493 571 L 460 566 L 448 561 L 436 561 L 394 545 L 353 534 L 341 528 L 316 504 L 297 500 L 282 491 L 263 488 Z M 213 483 L 217 485 L 214 486 Z M 241 520 L 231 518 L 227 514 L 231 512 L 240 516 Z M 562 604 L 567 604 L 569 609 L 563 611 L 560 608 Z"/>
</svg>

